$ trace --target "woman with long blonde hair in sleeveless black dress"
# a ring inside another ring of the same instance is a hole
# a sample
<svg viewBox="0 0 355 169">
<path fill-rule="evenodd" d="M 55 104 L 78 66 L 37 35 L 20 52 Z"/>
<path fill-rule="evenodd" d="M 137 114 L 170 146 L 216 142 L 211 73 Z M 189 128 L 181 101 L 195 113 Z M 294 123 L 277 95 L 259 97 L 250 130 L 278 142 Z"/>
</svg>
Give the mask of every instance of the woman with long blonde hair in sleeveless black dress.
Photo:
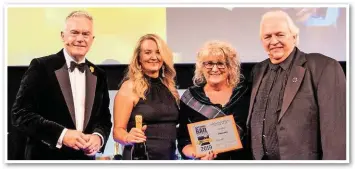
<svg viewBox="0 0 355 169">
<path fill-rule="evenodd" d="M 145 142 L 149 160 L 175 159 L 179 94 L 173 55 L 155 34 L 142 36 L 115 97 L 114 140 L 125 145 L 123 159 L 132 159 L 132 145 Z M 144 126 L 135 128 L 135 116 Z"/>
</svg>

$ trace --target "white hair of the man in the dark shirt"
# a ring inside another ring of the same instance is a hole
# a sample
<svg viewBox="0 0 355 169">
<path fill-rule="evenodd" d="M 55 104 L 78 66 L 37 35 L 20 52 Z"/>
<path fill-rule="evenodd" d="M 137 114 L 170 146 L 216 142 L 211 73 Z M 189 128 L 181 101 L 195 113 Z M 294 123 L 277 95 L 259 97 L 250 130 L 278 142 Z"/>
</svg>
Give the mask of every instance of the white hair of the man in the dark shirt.
<svg viewBox="0 0 355 169">
<path fill-rule="evenodd" d="M 299 44 L 299 34 L 300 34 L 300 29 L 295 25 L 291 17 L 284 11 L 281 10 L 276 10 L 276 11 L 269 11 L 266 12 L 262 17 L 260 21 L 260 37 L 262 36 L 262 26 L 263 23 L 266 19 L 270 18 L 279 18 L 279 19 L 284 19 L 290 29 L 290 32 L 293 36 L 296 37 L 296 43 L 295 45 L 297 46 Z"/>
</svg>

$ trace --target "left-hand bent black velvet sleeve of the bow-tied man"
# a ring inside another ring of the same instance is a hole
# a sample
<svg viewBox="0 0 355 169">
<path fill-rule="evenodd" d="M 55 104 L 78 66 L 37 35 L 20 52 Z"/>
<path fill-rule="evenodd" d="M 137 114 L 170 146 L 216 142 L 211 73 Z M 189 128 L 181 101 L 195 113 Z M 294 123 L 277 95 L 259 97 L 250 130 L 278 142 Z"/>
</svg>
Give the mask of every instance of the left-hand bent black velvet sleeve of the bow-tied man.
<svg viewBox="0 0 355 169">
<path fill-rule="evenodd" d="M 39 98 L 40 82 L 44 79 L 43 65 L 38 59 L 33 59 L 24 74 L 19 91 L 11 111 L 14 127 L 27 135 L 41 140 L 44 144 L 55 148 L 64 126 L 43 118 L 38 112 L 41 106 Z"/>
</svg>

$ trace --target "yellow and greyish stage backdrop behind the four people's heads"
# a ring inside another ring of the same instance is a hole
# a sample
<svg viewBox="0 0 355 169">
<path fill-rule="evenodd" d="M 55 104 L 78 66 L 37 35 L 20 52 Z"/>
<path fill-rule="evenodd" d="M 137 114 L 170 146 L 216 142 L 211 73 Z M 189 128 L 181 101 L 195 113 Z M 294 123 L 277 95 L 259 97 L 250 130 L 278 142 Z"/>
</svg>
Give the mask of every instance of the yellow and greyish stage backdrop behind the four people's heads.
<svg viewBox="0 0 355 169">
<path fill-rule="evenodd" d="M 207 40 L 224 40 L 237 49 L 242 62 L 267 55 L 259 37 L 263 13 L 280 9 L 300 28 L 299 47 L 346 58 L 346 8 L 8 8 L 8 65 L 28 65 L 32 58 L 62 48 L 60 31 L 73 10 L 94 18 L 95 40 L 87 57 L 97 64 L 128 64 L 138 38 L 155 33 L 174 52 L 175 63 L 194 63 Z M 25 17 L 24 17 L 25 16 Z"/>
</svg>

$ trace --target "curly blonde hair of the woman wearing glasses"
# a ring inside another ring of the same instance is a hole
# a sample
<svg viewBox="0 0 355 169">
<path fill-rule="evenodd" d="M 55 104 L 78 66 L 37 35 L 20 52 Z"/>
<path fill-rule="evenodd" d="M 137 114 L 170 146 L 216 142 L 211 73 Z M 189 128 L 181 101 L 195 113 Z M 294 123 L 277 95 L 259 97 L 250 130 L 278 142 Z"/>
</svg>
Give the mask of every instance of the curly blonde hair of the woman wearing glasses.
<svg viewBox="0 0 355 169">
<path fill-rule="evenodd" d="M 197 54 L 197 62 L 193 83 L 195 86 L 200 86 L 206 83 L 203 76 L 203 59 L 208 56 L 221 57 L 226 62 L 226 69 L 228 71 L 227 82 L 229 86 L 237 86 L 240 82 L 240 61 L 236 50 L 227 42 L 222 41 L 208 41 L 199 50 Z"/>
</svg>

